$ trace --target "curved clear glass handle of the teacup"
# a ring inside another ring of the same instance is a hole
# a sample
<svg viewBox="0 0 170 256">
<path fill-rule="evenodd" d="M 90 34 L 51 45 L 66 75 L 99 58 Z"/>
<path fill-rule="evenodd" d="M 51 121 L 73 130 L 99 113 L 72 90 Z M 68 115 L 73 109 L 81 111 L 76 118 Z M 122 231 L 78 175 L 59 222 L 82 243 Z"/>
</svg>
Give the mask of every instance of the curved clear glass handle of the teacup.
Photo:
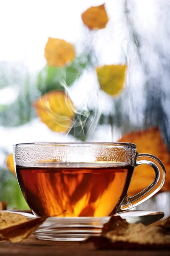
<svg viewBox="0 0 170 256">
<path fill-rule="evenodd" d="M 147 188 L 138 194 L 131 197 L 127 195 L 127 197 L 123 200 L 121 207 L 119 207 L 117 213 L 142 204 L 144 201 L 155 195 L 156 192 L 158 192 L 159 189 L 161 189 L 161 187 L 164 185 L 166 172 L 163 163 L 157 157 L 151 154 L 138 154 L 136 157 L 135 167 L 141 164 L 148 164 L 152 166 L 155 171 L 155 178 L 153 182 L 147 186 Z"/>
</svg>

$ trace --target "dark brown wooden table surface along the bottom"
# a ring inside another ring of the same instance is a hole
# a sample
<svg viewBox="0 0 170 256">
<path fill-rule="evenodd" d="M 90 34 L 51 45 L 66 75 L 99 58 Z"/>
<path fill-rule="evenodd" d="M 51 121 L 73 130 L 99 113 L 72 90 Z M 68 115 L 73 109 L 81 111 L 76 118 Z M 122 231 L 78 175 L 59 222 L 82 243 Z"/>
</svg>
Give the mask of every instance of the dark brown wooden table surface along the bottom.
<svg viewBox="0 0 170 256">
<path fill-rule="evenodd" d="M 96 250 L 93 244 L 38 240 L 33 235 L 20 244 L 0 242 L 0 255 L 17 256 L 169 256 L 169 250 Z"/>
</svg>

